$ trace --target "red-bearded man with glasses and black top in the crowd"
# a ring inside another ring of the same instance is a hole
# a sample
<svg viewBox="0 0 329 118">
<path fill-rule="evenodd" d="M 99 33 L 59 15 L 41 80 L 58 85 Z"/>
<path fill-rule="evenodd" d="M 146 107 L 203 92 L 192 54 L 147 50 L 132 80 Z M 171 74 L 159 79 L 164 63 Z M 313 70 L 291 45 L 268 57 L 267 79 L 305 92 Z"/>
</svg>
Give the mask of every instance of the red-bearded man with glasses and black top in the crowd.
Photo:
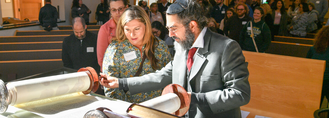
<svg viewBox="0 0 329 118">
<path fill-rule="evenodd" d="M 239 36 L 243 25 L 250 21 L 252 18 L 247 15 L 249 9 L 244 3 L 239 3 L 236 5 L 234 7 L 234 11 L 236 15 L 227 19 L 223 31 L 226 36 L 239 42 Z"/>
</svg>

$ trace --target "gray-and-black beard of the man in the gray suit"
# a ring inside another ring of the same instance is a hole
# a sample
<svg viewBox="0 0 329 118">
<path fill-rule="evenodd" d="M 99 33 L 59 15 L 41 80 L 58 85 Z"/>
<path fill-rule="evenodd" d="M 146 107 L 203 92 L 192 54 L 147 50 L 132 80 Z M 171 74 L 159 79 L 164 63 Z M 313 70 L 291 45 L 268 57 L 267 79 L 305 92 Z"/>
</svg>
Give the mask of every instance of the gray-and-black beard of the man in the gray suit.
<svg viewBox="0 0 329 118">
<path fill-rule="evenodd" d="M 192 33 L 190 28 L 186 28 L 185 40 L 182 40 L 176 36 L 173 36 L 172 38 L 179 40 L 179 43 L 175 40 L 174 49 L 176 51 L 176 54 L 181 54 L 192 47 L 193 42 L 195 40 L 195 35 Z"/>
</svg>

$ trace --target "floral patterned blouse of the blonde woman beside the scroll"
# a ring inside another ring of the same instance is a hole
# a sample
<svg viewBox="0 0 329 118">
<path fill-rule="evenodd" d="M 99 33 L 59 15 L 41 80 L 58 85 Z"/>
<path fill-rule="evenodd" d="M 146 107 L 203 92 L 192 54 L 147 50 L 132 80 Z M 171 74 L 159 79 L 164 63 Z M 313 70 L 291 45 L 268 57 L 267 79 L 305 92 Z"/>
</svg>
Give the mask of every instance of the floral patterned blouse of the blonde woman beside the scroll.
<svg viewBox="0 0 329 118">
<path fill-rule="evenodd" d="M 154 54 L 155 57 L 159 60 L 157 65 L 163 68 L 171 61 L 171 55 L 168 51 L 167 45 L 160 39 L 159 45 L 156 47 Z M 157 45 L 157 44 L 155 44 Z M 142 50 L 145 46 L 142 47 Z M 135 51 L 137 58 L 126 61 L 124 58 L 125 53 Z M 109 47 L 106 49 L 103 59 L 103 73 L 116 78 L 129 78 L 134 77 L 139 65 L 142 61 L 142 56 L 137 47 L 133 46 L 128 40 L 123 42 L 113 41 Z M 139 76 L 155 72 L 152 69 L 150 61 L 145 58 L 143 69 Z M 106 88 L 104 87 L 105 95 L 107 97 L 112 97 L 114 99 L 123 100 L 130 103 L 141 103 L 152 98 L 161 96 L 162 90 L 150 91 L 145 93 L 139 93 L 131 95 L 128 91 L 125 93 L 123 90 L 118 88 Z"/>
</svg>

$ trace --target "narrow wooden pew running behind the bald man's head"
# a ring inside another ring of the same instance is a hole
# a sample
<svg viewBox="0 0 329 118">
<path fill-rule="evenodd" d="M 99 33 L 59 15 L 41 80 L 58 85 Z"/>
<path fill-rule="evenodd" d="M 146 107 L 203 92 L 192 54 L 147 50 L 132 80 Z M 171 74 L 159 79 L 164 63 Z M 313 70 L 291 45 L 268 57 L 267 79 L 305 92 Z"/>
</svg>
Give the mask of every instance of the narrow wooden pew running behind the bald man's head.
<svg viewBox="0 0 329 118">
<path fill-rule="evenodd" d="M 99 30 L 88 30 L 92 33 L 98 34 Z M 16 30 L 14 36 L 39 36 L 39 35 L 71 35 L 74 34 L 73 30 L 34 30 L 34 31 L 18 31 Z"/>
</svg>

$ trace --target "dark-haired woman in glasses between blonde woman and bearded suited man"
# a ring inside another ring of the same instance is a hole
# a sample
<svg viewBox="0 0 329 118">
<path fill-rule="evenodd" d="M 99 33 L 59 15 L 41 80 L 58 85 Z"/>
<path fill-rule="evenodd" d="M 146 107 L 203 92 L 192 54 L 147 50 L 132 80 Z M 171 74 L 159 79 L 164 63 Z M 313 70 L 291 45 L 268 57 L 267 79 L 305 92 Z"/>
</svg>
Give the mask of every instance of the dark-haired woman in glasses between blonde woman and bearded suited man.
<svg viewBox="0 0 329 118">
<path fill-rule="evenodd" d="M 155 37 L 158 37 L 163 40 L 168 46 L 174 45 L 173 39 L 169 37 L 169 30 L 165 28 L 162 23 L 160 23 L 159 21 L 154 21 L 151 24 L 151 27 L 152 33 Z M 169 48 L 169 52 L 171 56 L 174 56 L 174 48 Z"/>
</svg>

